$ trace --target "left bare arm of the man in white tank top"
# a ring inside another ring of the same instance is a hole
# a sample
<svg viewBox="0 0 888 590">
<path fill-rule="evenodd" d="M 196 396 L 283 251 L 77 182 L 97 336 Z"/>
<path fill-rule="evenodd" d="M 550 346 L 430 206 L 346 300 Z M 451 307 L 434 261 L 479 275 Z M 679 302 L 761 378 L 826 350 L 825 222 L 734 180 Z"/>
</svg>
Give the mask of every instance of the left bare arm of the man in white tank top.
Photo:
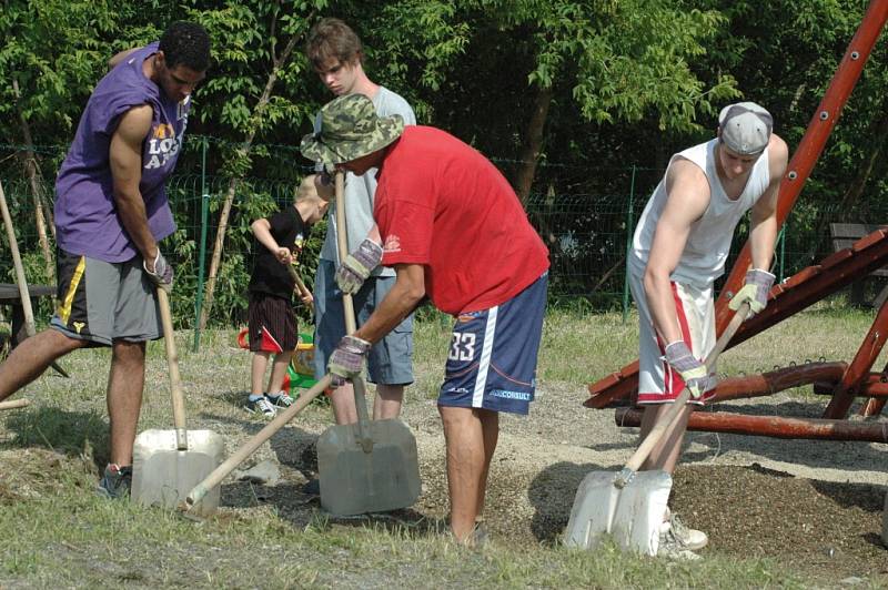
<svg viewBox="0 0 888 590">
<path fill-rule="evenodd" d="M 666 173 L 667 202 L 654 232 L 644 275 L 645 295 L 654 327 L 665 344 L 682 340 L 669 282 L 690 233 L 690 226 L 709 205 L 709 184 L 703 171 L 687 160 L 676 160 Z"/>
</svg>

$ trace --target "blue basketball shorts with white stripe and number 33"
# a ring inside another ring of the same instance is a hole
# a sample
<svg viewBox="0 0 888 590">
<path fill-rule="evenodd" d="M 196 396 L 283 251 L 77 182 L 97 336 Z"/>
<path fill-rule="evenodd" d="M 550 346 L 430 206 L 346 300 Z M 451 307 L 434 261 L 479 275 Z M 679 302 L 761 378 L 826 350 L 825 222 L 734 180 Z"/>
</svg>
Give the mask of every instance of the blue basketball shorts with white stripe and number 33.
<svg viewBox="0 0 888 590">
<path fill-rule="evenodd" d="M 547 284 L 548 272 L 501 305 L 460 314 L 440 406 L 527 414 L 536 388 Z"/>
</svg>

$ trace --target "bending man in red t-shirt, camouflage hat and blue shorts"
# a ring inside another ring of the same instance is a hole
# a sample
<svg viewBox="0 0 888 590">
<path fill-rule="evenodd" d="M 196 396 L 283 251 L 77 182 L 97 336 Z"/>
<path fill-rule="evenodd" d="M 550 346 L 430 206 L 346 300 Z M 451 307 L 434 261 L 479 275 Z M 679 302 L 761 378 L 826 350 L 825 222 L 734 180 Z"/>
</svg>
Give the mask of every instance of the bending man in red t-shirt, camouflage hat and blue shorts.
<svg viewBox="0 0 888 590">
<path fill-rule="evenodd" d="M 548 251 L 487 159 L 444 131 L 379 118 L 363 95 L 327 103 L 301 150 L 355 175 L 379 169 L 373 217 L 382 247 L 362 253 L 375 260 L 343 262 L 343 291 L 380 262 L 396 272 L 389 295 L 331 356 L 334 382 L 359 375 L 370 346 L 424 297 L 456 317 L 437 405 L 451 529 L 457 541 L 474 545 L 498 413 L 526 415 L 534 398 Z"/>
</svg>

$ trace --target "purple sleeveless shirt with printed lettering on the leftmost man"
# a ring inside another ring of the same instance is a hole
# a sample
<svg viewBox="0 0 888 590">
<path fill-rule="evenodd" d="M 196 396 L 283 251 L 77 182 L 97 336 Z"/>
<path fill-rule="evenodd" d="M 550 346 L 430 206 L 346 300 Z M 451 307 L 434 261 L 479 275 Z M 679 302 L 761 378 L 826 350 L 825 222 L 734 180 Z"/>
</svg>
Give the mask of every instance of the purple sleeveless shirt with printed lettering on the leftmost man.
<svg viewBox="0 0 888 590">
<path fill-rule="evenodd" d="M 179 159 L 191 100 L 174 102 L 145 77 L 142 63 L 157 51 L 158 43 L 151 43 L 111 70 L 80 118 L 56 180 L 56 238 L 68 253 L 105 262 L 124 262 L 138 254 L 117 214 L 109 149 L 121 116 L 141 104 L 154 109 L 142 145 L 139 183 L 148 224 L 158 241 L 175 231 L 164 183 Z"/>
</svg>

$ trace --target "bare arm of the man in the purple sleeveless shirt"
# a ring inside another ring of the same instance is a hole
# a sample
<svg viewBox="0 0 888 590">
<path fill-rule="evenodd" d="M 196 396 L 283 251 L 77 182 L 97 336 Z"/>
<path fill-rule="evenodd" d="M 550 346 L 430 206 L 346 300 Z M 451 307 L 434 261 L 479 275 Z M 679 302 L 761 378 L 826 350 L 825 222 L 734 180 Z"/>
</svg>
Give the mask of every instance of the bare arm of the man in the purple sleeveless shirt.
<svg viewBox="0 0 888 590">
<path fill-rule="evenodd" d="M 142 180 L 142 143 L 151 129 L 153 110 L 143 104 L 127 111 L 111 136 L 109 160 L 113 181 L 114 204 L 123 227 L 142 257 L 152 265 L 158 243 L 148 226 L 145 202 L 139 191 Z"/>
</svg>

